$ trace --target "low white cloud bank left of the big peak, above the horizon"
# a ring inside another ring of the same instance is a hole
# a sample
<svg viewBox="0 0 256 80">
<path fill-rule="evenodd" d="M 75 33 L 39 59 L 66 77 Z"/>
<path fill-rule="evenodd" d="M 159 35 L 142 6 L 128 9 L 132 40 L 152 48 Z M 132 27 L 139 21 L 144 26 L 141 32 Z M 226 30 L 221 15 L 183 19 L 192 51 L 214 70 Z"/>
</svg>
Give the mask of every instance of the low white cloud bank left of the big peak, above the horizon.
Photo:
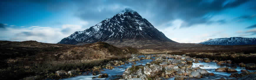
<svg viewBox="0 0 256 80">
<path fill-rule="evenodd" d="M 64 31 L 68 30 L 68 31 Z M 51 27 L 24 27 L 24 28 L 6 28 L 0 31 L 0 39 L 8 41 L 28 41 L 35 40 L 44 43 L 57 43 L 61 39 L 70 36 L 75 31 L 83 31 L 80 25 L 65 24 L 61 28 Z"/>
</svg>

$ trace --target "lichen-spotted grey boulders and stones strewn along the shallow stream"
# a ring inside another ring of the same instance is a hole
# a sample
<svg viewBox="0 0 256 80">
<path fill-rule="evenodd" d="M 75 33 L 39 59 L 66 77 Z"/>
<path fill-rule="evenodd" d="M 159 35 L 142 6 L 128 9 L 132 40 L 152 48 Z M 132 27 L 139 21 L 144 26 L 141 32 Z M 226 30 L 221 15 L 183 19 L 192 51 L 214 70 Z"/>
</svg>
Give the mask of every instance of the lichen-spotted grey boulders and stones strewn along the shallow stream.
<svg viewBox="0 0 256 80">
<path fill-rule="evenodd" d="M 127 61 L 110 61 L 107 65 L 104 66 L 94 66 L 94 68 L 84 74 L 99 75 L 103 68 L 113 69 L 113 66 L 120 66 L 127 63 L 133 63 L 136 65 L 134 61 L 140 61 L 143 59 L 152 59 L 150 63 L 143 65 L 137 65 L 127 68 L 122 75 L 112 75 L 108 76 L 108 74 L 101 74 L 98 77 L 93 77 L 93 79 L 105 78 L 105 80 L 167 80 L 168 78 L 175 77 L 174 80 L 185 80 L 185 79 L 200 79 L 203 76 L 214 76 L 214 73 L 209 73 L 205 69 L 201 69 L 198 67 L 192 67 L 192 63 L 199 62 L 216 62 L 216 64 L 231 64 L 232 61 L 217 61 L 210 60 L 208 58 L 196 58 L 189 57 L 186 55 L 168 55 L 168 54 L 156 54 L 156 55 L 144 55 L 145 57 L 138 57 L 139 55 L 132 55 L 132 58 Z M 256 69 L 256 65 L 253 63 L 250 64 L 239 64 L 240 67 L 245 67 L 246 69 Z M 232 73 L 229 78 L 231 80 L 255 80 L 256 71 L 250 72 L 245 69 L 241 70 L 241 73 L 236 73 L 235 69 L 231 68 L 217 68 L 216 72 L 230 72 Z M 73 73 L 72 71 L 56 71 L 56 75 L 62 77 L 60 74 L 64 72 L 64 76 L 73 75 L 77 73 Z M 225 78 L 217 78 L 220 80 L 225 80 Z M 230 80 L 229 79 L 229 80 Z"/>
</svg>

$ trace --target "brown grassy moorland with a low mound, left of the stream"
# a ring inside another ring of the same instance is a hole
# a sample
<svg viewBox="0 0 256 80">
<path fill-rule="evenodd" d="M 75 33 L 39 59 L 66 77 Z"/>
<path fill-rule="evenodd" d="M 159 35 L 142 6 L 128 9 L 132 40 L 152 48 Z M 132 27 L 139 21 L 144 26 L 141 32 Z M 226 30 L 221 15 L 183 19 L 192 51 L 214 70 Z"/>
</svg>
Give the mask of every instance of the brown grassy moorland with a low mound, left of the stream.
<svg viewBox="0 0 256 80">
<path fill-rule="evenodd" d="M 104 42 L 83 46 L 47 44 L 36 41 L 0 41 L 2 79 L 38 76 L 44 79 L 58 70 L 90 69 L 109 60 L 124 60 L 137 49 L 120 49 Z"/>
</svg>

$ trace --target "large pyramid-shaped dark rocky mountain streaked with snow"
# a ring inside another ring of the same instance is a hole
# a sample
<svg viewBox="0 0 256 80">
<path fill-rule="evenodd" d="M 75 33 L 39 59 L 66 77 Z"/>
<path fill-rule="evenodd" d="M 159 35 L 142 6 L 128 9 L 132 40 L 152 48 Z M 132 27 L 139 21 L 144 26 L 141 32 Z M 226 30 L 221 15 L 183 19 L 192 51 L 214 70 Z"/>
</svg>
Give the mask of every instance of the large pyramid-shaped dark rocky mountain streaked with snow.
<svg viewBox="0 0 256 80">
<path fill-rule="evenodd" d="M 124 9 L 112 18 L 105 19 L 95 26 L 62 39 L 58 44 L 83 45 L 98 41 L 122 43 L 127 40 L 154 40 L 158 42 L 174 42 L 161 31 L 142 18 L 132 9 Z"/>
</svg>

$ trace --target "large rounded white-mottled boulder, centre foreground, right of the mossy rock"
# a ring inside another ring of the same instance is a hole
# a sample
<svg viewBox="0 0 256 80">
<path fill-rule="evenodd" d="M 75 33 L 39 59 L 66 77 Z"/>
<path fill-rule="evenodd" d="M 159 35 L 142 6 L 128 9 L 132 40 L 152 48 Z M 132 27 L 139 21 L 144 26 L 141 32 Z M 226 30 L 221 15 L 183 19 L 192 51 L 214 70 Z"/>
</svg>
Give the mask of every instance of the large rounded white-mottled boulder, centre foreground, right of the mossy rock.
<svg viewBox="0 0 256 80">
<path fill-rule="evenodd" d="M 144 74 L 146 74 L 149 77 L 155 77 L 160 71 L 162 71 L 162 67 L 156 64 L 147 63 L 144 66 Z"/>
</svg>

